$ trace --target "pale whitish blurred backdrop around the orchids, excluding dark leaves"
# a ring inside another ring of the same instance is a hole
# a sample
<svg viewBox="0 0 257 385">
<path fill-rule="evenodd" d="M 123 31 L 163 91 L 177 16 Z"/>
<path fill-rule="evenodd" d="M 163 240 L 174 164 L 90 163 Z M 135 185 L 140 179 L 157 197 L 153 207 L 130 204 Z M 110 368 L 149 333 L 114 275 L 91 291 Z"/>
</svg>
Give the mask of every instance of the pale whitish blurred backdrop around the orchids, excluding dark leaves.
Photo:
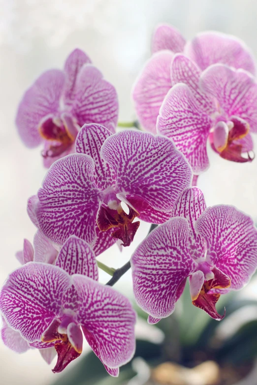
<svg viewBox="0 0 257 385">
<path fill-rule="evenodd" d="M 254 0 L 0 0 L 0 284 L 18 267 L 14 254 L 23 238 L 32 241 L 35 228 L 26 202 L 45 175 L 40 149 L 25 148 L 14 125 L 19 100 L 36 77 L 62 68 L 69 52 L 79 47 L 117 88 L 120 120 L 132 120 L 131 86 L 150 56 L 157 23 L 175 25 L 188 39 L 207 29 L 237 35 L 257 57 L 256 14 Z M 235 164 L 209 153 L 211 167 L 199 178 L 207 205 L 232 204 L 257 221 L 257 160 Z M 141 223 L 132 245 L 122 254 L 114 246 L 102 262 L 122 266 L 148 229 Z M 107 280 L 103 273 L 101 281 Z M 129 272 L 117 286 L 131 290 Z M 257 297 L 257 285 L 253 282 L 243 295 Z M 139 325 L 142 330 L 147 334 Z M 4 385 L 49 384 L 58 376 L 35 350 L 17 355 L 0 341 L 0 359 Z"/>
</svg>

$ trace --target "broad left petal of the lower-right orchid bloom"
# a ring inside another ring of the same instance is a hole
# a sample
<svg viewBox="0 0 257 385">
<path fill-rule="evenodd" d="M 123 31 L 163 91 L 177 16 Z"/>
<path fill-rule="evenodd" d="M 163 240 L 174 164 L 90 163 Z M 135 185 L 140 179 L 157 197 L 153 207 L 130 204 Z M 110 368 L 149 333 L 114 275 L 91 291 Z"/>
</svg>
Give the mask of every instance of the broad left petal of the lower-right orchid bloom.
<svg viewBox="0 0 257 385">
<path fill-rule="evenodd" d="M 135 299 L 153 318 L 165 318 L 174 311 L 177 291 L 181 295 L 186 278 L 197 266 L 187 246 L 189 233 L 185 218 L 172 218 L 152 231 L 131 257 Z"/>
</svg>

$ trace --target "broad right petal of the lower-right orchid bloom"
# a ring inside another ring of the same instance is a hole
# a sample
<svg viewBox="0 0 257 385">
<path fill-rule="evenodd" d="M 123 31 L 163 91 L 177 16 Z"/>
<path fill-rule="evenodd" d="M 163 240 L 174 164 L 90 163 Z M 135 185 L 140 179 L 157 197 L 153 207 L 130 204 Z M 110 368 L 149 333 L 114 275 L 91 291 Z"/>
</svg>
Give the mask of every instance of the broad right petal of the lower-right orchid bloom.
<svg viewBox="0 0 257 385">
<path fill-rule="evenodd" d="M 241 289 L 257 268 L 253 220 L 233 206 L 213 206 L 197 219 L 195 230 L 206 241 L 206 261 L 231 279 L 231 289 Z"/>
</svg>

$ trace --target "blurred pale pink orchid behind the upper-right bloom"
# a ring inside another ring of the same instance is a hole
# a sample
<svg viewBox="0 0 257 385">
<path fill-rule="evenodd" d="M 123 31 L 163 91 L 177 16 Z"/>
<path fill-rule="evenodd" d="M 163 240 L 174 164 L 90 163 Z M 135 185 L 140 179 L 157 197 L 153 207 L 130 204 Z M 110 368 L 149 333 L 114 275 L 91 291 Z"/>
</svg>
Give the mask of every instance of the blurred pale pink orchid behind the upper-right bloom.
<svg viewBox="0 0 257 385">
<path fill-rule="evenodd" d="M 170 72 L 176 53 L 184 53 L 201 71 L 223 63 L 255 74 L 255 61 L 244 42 L 221 32 L 201 32 L 186 43 L 177 29 L 160 25 L 153 36 L 152 52 L 135 82 L 132 98 L 142 127 L 153 133 L 161 104 L 174 85 Z"/>
</svg>

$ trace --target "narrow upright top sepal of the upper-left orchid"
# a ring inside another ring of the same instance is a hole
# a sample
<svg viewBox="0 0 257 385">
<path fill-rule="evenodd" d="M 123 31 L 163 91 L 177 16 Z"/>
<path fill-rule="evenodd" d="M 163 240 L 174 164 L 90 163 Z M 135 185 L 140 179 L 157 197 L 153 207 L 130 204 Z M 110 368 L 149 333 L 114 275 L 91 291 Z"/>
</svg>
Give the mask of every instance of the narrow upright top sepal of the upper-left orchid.
<svg viewBox="0 0 257 385">
<path fill-rule="evenodd" d="M 73 50 L 65 61 L 64 72 L 66 74 L 66 80 L 64 87 L 64 103 L 67 105 L 72 104 L 72 101 L 74 100 L 76 79 L 81 67 L 85 63 L 91 63 L 91 60 L 85 52 L 78 48 Z"/>
</svg>

